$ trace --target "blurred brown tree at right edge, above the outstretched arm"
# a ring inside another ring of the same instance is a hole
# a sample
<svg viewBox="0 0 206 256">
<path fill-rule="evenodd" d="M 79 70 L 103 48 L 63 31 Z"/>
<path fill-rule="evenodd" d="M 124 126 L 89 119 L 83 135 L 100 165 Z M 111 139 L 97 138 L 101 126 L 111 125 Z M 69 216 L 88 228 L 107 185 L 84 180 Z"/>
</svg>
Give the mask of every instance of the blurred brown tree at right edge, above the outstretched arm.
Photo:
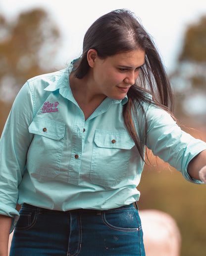
<svg viewBox="0 0 206 256">
<path fill-rule="evenodd" d="M 176 115 L 206 123 L 206 16 L 188 26 L 177 68 L 170 75 L 176 93 Z M 204 118 L 203 118 L 204 116 Z"/>
</svg>

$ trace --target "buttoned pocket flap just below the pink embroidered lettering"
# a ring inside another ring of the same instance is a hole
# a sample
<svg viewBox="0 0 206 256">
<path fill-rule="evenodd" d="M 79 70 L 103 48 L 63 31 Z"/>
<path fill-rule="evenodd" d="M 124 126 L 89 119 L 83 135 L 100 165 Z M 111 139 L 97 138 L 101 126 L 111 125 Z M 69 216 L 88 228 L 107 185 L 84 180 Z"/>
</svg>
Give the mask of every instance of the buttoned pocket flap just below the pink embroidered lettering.
<svg viewBox="0 0 206 256">
<path fill-rule="evenodd" d="M 36 117 L 29 126 L 29 132 L 54 140 L 64 137 L 65 124 L 46 118 Z"/>
</svg>

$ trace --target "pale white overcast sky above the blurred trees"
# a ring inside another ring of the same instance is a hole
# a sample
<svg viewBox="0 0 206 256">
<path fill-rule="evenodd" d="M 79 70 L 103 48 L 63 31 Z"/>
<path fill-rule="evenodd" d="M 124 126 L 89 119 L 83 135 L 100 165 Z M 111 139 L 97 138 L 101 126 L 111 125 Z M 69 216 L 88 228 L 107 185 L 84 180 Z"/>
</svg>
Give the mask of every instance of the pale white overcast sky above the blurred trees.
<svg viewBox="0 0 206 256">
<path fill-rule="evenodd" d="M 0 0 L 0 12 L 11 19 L 33 7 L 44 7 L 61 31 L 63 44 L 56 67 L 81 54 L 84 34 L 98 17 L 114 9 L 127 8 L 154 37 L 170 72 L 181 50 L 186 26 L 206 15 L 206 0 Z"/>
</svg>

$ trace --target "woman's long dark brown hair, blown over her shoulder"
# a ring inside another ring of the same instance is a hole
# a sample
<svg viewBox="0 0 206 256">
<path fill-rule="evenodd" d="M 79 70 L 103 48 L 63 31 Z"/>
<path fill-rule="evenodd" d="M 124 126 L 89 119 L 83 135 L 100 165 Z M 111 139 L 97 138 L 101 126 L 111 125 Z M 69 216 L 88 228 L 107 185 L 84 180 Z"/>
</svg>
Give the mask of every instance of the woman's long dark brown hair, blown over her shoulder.
<svg viewBox="0 0 206 256">
<path fill-rule="evenodd" d="M 154 42 L 138 22 L 135 15 L 125 9 L 111 11 L 97 19 L 87 30 L 83 42 L 83 54 L 74 64 L 74 76 L 82 79 L 89 71 L 87 53 L 95 49 L 98 57 L 108 56 L 141 49 L 146 52 L 145 64 L 141 68 L 138 80 L 130 87 L 128 101 L 123 107 L 124 123 L 133 138 L 141 158 L 144 160 L 142 141 L 140 141 L 134 123 L 135 106 L 138 104 L 145 114 L 142 102 L 148 102 L 172 113 L 173 94 L 158 51 Z M 146 93 L 152 94 L 152 98 Z M 145 127 L 147 143 L 147 119 Z"/>
</svg>

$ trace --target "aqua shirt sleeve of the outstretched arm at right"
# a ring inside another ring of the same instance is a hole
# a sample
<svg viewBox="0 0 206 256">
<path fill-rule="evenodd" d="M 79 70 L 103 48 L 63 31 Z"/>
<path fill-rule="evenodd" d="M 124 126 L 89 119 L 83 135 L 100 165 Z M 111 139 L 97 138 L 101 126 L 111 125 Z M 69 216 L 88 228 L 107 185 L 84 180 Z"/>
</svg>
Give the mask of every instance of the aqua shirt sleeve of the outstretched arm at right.
<svg viewBox="0 0 206 256">
<path fill-rule="evenodd" d="M 147 147 L 190 182 L 202 183 L 187 172 L 189 162 L 206 149 L 206 143 L 181 130 L 166 111 L 151 106 L 147 111 Z"/>
</svg>

